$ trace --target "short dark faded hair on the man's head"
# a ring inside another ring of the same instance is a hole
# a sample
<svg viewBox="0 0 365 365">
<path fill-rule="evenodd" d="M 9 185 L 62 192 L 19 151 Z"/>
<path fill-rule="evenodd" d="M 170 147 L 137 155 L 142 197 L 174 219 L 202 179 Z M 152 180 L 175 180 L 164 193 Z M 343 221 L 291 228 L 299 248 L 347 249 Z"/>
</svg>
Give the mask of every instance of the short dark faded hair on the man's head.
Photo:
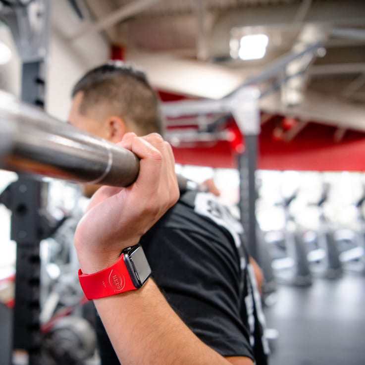
<svg viewBox="0 0 365 365">
<path fill-rule="evenodd" d="M 159 99 L 142 70 L 122 61 L 110 61 L 88 71 L 72 89 L 72 98 L 79 92 L 83 92 L 80 113 L 106 104 L 111 113 L 142 134 L 163 134 Z"/>
</svg>

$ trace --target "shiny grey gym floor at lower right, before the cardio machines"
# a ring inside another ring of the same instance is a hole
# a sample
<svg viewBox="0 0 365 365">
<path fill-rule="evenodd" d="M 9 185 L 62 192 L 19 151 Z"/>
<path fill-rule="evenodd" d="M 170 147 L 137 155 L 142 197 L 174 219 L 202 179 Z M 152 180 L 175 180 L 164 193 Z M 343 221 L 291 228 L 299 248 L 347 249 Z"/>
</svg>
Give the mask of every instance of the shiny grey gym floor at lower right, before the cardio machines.
<svg viewBox="0 0 365 365">
<path fill-rule="evenodd" d="M 270 365 L 364 365 L 365 276 L 315 278 L 307 288 L 279 286 L 265 309 L 267 327 L 279 331 L 270 343 Z"/>
</svg>

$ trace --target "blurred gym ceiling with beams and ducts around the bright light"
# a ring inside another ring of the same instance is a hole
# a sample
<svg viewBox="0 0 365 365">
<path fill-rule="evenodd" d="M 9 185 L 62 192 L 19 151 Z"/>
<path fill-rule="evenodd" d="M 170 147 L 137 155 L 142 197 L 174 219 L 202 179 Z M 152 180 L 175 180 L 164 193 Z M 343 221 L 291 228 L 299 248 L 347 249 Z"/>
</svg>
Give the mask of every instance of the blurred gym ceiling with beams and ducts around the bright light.
<svg viewBox="0 0 365 365">
<path fill-rule="evenodd" d="M 262 77 L 261 109 L 365 131 L 364 0 L 70 0 L 92 19 L 79 39 L 104 32 L 161 90 L 219 100 Z M 265 56 L 230 55 L 230 39 L 263 33 Z M 276 62 L 276 63 L 275 63 Z"/>
</svg>

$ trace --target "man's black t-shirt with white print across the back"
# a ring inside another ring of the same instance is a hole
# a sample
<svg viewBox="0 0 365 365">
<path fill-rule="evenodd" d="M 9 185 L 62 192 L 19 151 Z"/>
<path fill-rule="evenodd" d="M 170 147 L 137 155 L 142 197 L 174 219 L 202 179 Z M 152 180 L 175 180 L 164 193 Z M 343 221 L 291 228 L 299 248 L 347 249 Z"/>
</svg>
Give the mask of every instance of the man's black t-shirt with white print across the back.
<svg viewBox="0 0 365 365">
<path fill-rule="evenodd" d="M 189 191 L 140 243 L 166 300 L 204 343 L 265 365 L 261 300 L 241 233 L 214 196 Z M 102 364 L 119 364 L 97 323 Z"/>
</svg>

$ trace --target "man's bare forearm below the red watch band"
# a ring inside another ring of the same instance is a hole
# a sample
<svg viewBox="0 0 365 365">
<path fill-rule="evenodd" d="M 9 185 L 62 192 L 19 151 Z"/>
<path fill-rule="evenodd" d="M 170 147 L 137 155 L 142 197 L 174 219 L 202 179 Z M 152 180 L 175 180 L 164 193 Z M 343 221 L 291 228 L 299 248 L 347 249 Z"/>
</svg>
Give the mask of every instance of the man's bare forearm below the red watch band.
<svg viewBox="0 0 365 365">
<path fill-rule="evenodd" d="M 229 364 L 190 331 L 152 279 L 141 289 L 95 300 L 95 305 L 123 365 Z"/>
</svg>

